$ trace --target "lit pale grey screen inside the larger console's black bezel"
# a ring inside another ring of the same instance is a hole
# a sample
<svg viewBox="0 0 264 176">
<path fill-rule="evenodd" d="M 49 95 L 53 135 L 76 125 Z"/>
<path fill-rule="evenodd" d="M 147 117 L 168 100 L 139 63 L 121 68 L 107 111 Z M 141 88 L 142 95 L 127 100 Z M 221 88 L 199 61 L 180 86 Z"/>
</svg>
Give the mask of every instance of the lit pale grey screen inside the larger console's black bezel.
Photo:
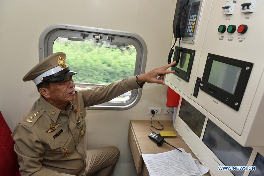
<svg viewBox="0 0 264 176">
<path fill-rule="evenodd" d="M 208 83 L 234 95 L 240 73 L 240 67 L 213 61 Z"/>
</svg>

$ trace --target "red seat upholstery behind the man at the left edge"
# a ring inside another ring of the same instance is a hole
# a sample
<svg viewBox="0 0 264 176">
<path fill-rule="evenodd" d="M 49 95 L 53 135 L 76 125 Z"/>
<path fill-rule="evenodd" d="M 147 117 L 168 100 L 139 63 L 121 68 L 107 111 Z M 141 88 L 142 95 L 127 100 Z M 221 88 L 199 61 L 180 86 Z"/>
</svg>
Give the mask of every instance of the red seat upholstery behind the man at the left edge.
<svg viewBox="0 0 264 176">
<path fill-rule="evenodd" d="M 21 176 L 18 171 L 17 155 L 14 151 L 15 141 L 11 137 L 11 130 L 6 124 L 1 111 L 0 130 L 0 175 Z"/>
</svg>

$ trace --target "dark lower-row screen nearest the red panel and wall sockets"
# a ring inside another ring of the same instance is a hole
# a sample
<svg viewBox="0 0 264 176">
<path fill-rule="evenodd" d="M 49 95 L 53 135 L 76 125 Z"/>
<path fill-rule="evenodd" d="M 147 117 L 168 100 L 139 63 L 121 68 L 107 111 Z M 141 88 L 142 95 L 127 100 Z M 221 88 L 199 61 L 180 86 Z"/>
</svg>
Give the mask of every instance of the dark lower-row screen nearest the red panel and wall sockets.
<svg viewBox="0 0 264 176">
<path fill-rule="evenodd" d="M 179 117 L 189 128 L 200 138 L 204 126 L 205 115 L 194 108 L 190 103 L 182 98 Z"/>
</svg>

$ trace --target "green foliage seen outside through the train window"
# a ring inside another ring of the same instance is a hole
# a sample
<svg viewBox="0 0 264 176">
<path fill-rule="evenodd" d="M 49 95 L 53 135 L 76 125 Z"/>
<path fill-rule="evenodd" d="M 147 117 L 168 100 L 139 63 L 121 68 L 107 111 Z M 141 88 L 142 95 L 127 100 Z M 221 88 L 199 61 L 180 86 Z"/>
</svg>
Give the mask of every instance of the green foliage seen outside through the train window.
<svg viewBox="0 0 264 176">
<path fill-rule="evenodd" d="M 66 62 L 76 83 L 110 84 L 134 76 L 136 49 L 134 46 L 109 45 L 109 42 L 94 43 L 90 39 L 67 41 L 59 37 L 53 44 L 53 53 L 64 52 Z"/>
</svg>

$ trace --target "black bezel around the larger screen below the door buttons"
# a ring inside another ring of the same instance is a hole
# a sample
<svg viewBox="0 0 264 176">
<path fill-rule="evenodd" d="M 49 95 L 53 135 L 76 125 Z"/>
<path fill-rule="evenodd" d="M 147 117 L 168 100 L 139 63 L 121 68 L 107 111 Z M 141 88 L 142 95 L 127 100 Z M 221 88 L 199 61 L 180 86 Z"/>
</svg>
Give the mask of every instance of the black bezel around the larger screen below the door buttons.
<svg viewBox="0 0 264 176">
<path fill-rule="evenodd" d="M 226 63 L 232 66 L 237 66 L 237 67 L 242 68 L 234 94 L 231 94 L 227 92 L 226 90 L 223 90 L 208 82 L 213 61 L 219 61 L 222 63 Z M 246 70 L 247 67 L 249 67 L 248 70 Z M 246 86 L 247 86 L 248 79 L 249 79 L 252 68 L 253 68 L 253 63 L 251 62 L 241 61 L 241 60 L 237 60 L 233 58 L 228 58 L 228 57 L 208 53 L 200 89 L 208 93 L 209 95 L 213 96 L 217 100 L 220 100 L 221 102 L 225 103 L 226 105 L 233 108 L 234 110 L 238 111 L 241 105 L 243 95 L 246 90 Z M 236 105 L 236 103 L 238 104 Z"/>
</svg>

